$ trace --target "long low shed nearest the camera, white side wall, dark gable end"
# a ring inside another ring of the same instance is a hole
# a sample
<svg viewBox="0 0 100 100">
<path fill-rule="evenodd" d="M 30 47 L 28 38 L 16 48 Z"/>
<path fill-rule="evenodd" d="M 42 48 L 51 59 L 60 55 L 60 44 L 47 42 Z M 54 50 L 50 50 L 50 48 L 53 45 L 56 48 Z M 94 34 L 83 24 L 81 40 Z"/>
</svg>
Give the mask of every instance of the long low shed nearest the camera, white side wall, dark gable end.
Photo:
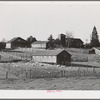
<svg viewBox="0 0 100 100">
<path fill-rule="evenodd" d="M 71 55 L 66 50 L 38 50 L 32 59 L 35 62 L 66 64 L 71 62 Z"/>
</svg>

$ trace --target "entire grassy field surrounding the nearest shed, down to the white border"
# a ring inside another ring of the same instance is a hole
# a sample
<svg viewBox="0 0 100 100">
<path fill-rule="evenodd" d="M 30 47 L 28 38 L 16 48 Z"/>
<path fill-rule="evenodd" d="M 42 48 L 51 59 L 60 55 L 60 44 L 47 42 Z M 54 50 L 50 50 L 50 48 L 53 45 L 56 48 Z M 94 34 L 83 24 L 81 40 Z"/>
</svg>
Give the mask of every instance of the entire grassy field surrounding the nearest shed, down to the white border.
<svg viewBox="0 0 100 100">
<path fill-rule="evenodd" d="M 100 89 L 100 64 L 89 60 L 97 56 L 88 54 L 88 49 L 67 48 L 72 62 L 66 66 L 32 62 L 34 51 L 19 51 L 0 52 L 0 89 Z"/>
</svg>

